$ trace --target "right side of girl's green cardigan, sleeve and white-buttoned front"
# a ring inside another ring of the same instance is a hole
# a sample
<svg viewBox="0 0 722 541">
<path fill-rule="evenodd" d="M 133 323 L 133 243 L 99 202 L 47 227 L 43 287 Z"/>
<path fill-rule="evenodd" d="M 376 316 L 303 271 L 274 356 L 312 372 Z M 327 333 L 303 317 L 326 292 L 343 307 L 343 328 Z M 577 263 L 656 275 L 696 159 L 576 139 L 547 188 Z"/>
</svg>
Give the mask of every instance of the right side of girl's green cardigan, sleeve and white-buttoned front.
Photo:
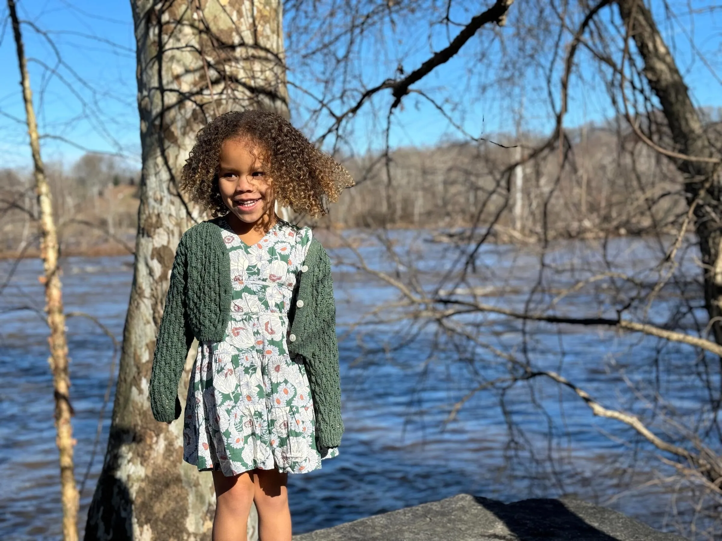
<svg viewBox="0 0 722 541">
<path fill-rule="evenodd" d="M 334 281 L 329 255 L 316 239 L 311 242 L 305 265 L 308 271 L 301 277 L 298 291 L 298 298 L 304 304 L 295 311 L 292 333 L 297 335 L 297 341 L 290 344 L 290 349 L 305 360 L 316 413 L 318 445 L 339 447 L 344 423 L 341 419 Z"/>
</svg>

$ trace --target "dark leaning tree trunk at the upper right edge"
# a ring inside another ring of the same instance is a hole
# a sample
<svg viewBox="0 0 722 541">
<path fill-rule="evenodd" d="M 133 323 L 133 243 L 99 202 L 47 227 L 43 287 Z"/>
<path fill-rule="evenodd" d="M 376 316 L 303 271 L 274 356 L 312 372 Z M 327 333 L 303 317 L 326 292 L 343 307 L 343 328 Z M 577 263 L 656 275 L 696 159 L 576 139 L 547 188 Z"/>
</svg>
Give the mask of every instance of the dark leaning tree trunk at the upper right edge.
<svg viewBox="0 0 722 541">
<path fill-rule="evenodd" d="M 722 231 L 718 226 L 722 220 L 722 186 L 719 160 L 712 159 L 719 156 L 647 6 L 642 0 L 617 0 L 617 6 L 643 58 L 644 75 L 661 104 L 677 146 L 669 150 L 690 158 L 670 156 L 687 177 L 687 201 L 691 204 L 700 198 L 695 206 L 695 229 L 703 260 L 705 305 L 715 340 L 722 344 Z"/>
</svg>

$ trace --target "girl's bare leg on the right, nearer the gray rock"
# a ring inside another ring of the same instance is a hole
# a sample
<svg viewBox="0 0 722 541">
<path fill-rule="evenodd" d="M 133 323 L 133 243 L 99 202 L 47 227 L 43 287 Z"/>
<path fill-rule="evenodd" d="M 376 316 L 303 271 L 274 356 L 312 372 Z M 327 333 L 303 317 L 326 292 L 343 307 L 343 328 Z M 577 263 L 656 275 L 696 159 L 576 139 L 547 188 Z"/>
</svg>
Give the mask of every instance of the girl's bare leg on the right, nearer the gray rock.
<svg viewBox="0 0 722 541">
<path fill-rule="evenodd" d="M 278 470 L 253 470 L 260 541 L 291 541 L 287 480 L 288 474 Z"/>
</svg>

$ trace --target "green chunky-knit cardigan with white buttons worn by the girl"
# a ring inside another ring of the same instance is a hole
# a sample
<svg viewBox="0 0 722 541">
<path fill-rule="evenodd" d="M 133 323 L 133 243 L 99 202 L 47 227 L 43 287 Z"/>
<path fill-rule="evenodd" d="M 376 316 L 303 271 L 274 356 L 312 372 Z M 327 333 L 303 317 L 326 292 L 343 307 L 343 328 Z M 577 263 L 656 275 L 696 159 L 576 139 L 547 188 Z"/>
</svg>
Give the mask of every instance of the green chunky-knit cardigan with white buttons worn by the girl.
<svg viewBox="0 0 722 541">
<path fill-rule="evenodd" d="M 339 447 L 344 423 L 334 284 L 329 255 L 315 238 L 303 267 L 307 270 L 300 274 L 289 313 L 290 338 L 295 335 L 295 340 L 289 340 L 288 349 L 292 359 L 303 359 L 306 366 L 318 446 Z M 150 376 L 150 405 L 157 421 L 170 423 L 181 414 L 178 382 L 193 338 L 199 342 L 224 338 L 232 298 L 229 269 L 217 221 L 203 221 L 183 234 L 175 251 Z M 303 307 L 296 308 L 299 299 Z"/>
</svg>

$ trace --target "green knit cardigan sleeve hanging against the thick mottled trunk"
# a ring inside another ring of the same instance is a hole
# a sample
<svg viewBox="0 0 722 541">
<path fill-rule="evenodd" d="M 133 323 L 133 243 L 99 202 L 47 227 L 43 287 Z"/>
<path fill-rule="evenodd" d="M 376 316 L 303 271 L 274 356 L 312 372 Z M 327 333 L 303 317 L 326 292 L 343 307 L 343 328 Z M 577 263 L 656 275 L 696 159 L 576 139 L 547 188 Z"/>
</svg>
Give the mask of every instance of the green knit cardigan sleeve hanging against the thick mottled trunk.
<svg viewBox="0 0 722 541">
<path fill-rule="evenodd" d="M 165 423 L 170 423 L 181 415 L 178 382 L 181 380 L 188 350 L 193 343 L 193 332 L 188 326 L 183 299 L 188 278 L 186 258 L 186 248 L 181 239 L 175 251 L 150 375 L 149 395 L 153 417 L 156 421 Z"/>
</svg>

